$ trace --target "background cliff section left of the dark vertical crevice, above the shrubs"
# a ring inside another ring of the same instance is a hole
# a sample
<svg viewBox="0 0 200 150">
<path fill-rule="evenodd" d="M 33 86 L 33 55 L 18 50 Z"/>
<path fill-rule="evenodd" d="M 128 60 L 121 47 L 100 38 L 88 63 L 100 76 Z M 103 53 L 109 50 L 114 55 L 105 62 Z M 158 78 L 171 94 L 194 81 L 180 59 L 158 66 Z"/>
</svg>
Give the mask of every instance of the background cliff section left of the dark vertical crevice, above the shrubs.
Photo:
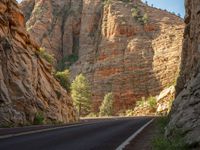
<svg viewBox="0 0 200 150">
<path fill-rule="evenodd" d="M 78 52 L 82 0 L 24 0 L 20 8 L 40 47 L 58 59 Z"/>
</svg>

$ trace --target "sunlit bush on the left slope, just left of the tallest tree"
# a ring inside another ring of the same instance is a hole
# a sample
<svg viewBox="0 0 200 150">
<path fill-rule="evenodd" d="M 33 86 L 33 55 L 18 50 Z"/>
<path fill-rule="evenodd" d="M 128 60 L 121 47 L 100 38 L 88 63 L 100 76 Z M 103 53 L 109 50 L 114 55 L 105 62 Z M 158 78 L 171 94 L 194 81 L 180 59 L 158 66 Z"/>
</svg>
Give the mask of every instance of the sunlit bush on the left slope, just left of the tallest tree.
<svg viewBox="0 0 200 150">
<path fill-rule="evenodd" d="M 68 92 L 70 91 L 69 76 L 70 76 L 70 72 L 69 72 L 68 69 L 66 69 L 66 70 L 64 70 L 62 72 L 57 72 L 55 74 L 56 79 L 59 80 L 59 82 L 62 85 L 62 87 L 65 88 Z"/>
</svg>

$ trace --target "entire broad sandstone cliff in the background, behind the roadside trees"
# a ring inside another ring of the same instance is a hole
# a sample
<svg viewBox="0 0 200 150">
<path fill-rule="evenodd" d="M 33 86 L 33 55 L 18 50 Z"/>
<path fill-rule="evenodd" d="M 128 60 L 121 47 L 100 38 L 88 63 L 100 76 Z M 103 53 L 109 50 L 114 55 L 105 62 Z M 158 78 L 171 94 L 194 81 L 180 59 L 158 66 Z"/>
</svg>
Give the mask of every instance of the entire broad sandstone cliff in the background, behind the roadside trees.
<svg viewBox="0 0 200 150">
<path fill-rule="evenodd" d="M 140 0 L 33 1 L 21 4 L 27 30 L 57 58 L 78 53 L 72 74 L 90 80 L 94 111 L 108 92 L 118 112 L 174 84 L 184 28 L 179 17 Z"/>
</svg>

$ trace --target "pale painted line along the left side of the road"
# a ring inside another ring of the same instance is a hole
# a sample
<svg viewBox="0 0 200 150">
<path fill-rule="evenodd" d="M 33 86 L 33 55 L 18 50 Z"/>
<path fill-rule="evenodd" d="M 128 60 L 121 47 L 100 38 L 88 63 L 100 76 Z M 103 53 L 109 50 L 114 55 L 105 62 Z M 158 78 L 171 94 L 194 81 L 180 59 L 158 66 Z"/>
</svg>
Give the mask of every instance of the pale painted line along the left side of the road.
<svg viewBox="0 0 200 150">
<path fill-rule="evenodd" d="M 28 131 L 28 132 L 22 132 L 22 133 L 16 133 L 16 134 L 8 134 L 8 135 L 0 136 L 0 139 L 6 139 L 6 138 L 17 137 L 17 136 L 21 136 L 21 135 L 28 135 L 28 134 L 34 134 L 34 133 L 41 133 L 41 132 L 45 132 L 45 131 L 53 131 L 53 130 L 57 130 L 57 129 L 78 127 L 78 126 L 90 125 L 90 124 L 95 124 L 95 122 L 93 122 L 93 123 L 75 124 L 75 125 L 62 126 L 62 127 L 55 127 L 55 128 L 48 128 L 48 129 L 41 129 L 41 130 Z"/>
</svg>

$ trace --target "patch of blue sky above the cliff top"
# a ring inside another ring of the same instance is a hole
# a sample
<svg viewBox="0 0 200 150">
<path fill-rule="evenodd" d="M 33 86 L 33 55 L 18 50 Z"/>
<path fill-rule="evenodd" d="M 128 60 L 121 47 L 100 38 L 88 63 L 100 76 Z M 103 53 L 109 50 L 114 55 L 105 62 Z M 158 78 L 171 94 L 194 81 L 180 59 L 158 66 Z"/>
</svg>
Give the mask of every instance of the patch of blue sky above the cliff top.
<svg viewBox="0 0 200 150">
<path fill-rule="evenodd" d="M 180 13 L 181 17 L 185 16 L 184 0 L 142 0 L 147 1 L 149 5 L 153 4 L 154 7 L 167 9 L 170 12 Z"/>
</svg>

